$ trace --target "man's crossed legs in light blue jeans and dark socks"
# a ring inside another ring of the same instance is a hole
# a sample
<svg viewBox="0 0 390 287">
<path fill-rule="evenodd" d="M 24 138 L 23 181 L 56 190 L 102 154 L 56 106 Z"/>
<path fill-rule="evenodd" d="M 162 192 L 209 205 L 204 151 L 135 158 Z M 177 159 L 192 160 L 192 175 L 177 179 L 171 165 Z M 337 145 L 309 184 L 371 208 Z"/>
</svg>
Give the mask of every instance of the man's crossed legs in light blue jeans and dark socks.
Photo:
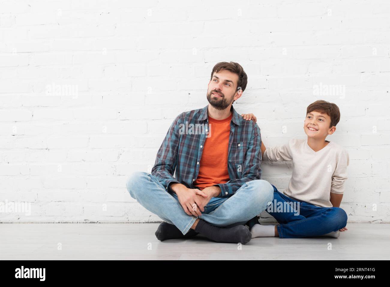
<svg viewBox="0 0 390 287">
<path fill-rule="evenodd" d="M 246 244 L 252 235 L 244 224 L 264 211 L 273 199 L 273 186 L 268 181 L 248 181 L 229 198 L 211 198 L 201 216 L 190 216 L 185 213 L 176 193 L 168 192 L 151 174 L 133 173 L 128 178 L 126 187 L 131 197 L 169 224 L 161 223 L 157 230 L 156 236 L 160 240 L 180 238 L 166 238 L 167 232 L 176 236 L 181 232 L 181 238 L 195 236 L 199 232 L 216 242 Z M 198 218 L 200 221 L 195 231 L 191 230 Z"/>
</svg>

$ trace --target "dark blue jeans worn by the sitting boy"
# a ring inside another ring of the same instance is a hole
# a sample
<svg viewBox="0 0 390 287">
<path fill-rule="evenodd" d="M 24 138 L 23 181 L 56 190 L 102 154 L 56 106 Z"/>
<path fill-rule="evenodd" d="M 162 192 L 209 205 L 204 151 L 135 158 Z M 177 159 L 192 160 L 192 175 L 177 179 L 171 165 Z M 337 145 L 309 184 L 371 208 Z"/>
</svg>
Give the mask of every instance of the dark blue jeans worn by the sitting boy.
<svg viewBox="0 0 390 287">
<path fill-rule="evenodd" d="M 273 203 L 266 211 L 280 223 L 277 225 L 280 238 L 321 236 L 346 227 L 347 214 L 340 207 L 318 207 L 290 198 L 280 193 L 275 186 L 273 189 Z M 275 208 L 275 202 L 279 206 L 289 204 L 293 208 L 284 208 L 280 212 Z"/>
</svg>

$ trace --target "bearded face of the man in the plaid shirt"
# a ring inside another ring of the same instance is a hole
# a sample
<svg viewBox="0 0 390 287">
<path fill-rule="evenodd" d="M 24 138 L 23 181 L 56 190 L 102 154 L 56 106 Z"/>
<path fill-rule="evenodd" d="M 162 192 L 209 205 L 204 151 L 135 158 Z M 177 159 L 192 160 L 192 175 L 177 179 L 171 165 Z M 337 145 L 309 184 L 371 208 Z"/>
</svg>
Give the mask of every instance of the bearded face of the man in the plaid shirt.
<svg viewBox="0 0 390 287">
<path fill-rule="evenodd" d="M 221 70 L 213 74 L 207 89 L 207 100 L 214 108 L 224 110 L 238 99 L 242 92 L 237 92 L 238 74 Z"/>
</svg>

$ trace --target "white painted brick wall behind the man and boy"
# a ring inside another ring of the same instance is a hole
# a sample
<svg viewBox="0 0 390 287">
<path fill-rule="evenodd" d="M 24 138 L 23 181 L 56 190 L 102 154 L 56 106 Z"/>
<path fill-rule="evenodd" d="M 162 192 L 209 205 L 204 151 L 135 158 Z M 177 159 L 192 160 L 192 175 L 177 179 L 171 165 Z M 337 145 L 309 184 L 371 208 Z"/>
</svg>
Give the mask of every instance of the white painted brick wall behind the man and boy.
<svg viewBox="0 0 390 287">
<path fill-rule="evenodd" d="M 177 114 L 207 104 L 212 67 L 236 61 L 248 86 L 234 105 L 269 147 L 304 136 L 309 103 L 340 106 L 341 207 L 390 222 L 389 17 L 388 0 L 0 1 L 0 201 L 31 204 L 0 221 L 160 220 L 126 179 Z M 283 190 L 289 166 L 262 167 Z"/>
</svg>

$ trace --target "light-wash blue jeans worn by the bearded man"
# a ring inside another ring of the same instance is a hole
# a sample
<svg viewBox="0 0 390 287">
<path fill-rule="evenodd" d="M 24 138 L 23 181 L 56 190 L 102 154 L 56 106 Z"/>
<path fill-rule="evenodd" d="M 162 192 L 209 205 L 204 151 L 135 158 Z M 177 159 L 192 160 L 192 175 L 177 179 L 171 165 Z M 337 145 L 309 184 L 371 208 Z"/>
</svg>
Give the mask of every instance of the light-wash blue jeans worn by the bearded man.
<svg viewBox="0 0 390 287">
<path fill-rule="evenodd" d="M 127 180 L 131 197 L 147 210 L 186 234 L 197 218 L 219 227 L 233 227 L 245 223 L 264 211 L 272 201 L 273 188 L 261 179 L 248 181 L 231 197 L 212 197 L 200 216 L 184 212 L 177 195 L 169 192 L 156 177 L 146 172 L 135 172 Z"/>
</svg>

